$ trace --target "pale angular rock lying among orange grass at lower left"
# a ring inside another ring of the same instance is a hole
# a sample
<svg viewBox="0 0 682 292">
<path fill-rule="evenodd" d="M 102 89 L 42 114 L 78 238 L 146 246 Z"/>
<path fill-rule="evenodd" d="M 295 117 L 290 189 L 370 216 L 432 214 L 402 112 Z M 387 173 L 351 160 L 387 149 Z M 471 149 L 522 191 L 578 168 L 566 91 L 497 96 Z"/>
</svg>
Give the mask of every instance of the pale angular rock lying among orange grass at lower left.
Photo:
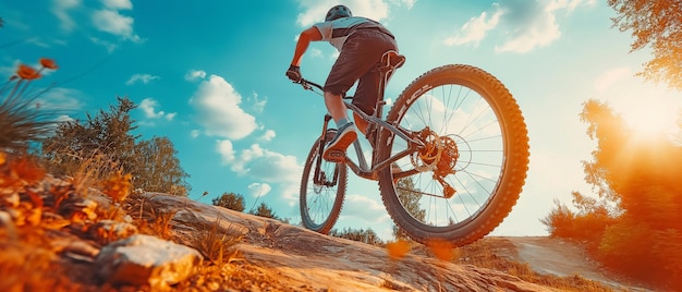
<svg viewBox="0 0 682 292">
<path fill-rule="evenodd" d="M 137 234 L 105 246 L 95 264 L 106 282 L 165 291 L 191 277 L 202 260 L 194 248 Z"/>
</svg>

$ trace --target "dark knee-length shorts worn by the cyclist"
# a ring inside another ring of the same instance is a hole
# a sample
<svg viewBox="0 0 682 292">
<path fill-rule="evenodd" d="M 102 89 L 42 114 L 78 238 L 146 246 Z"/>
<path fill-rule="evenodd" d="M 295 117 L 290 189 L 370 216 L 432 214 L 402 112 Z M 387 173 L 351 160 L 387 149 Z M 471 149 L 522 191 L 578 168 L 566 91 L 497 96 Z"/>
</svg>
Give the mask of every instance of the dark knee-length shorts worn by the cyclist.
<svg viewBox="0 0 682 292">
<path fill-rule="evenodd" d="M 375 69 L 381 56 L 389 50 L 398 51 L 393 37 L 377 29 L 356 31 L 343 44 L 341 54 L 325 83 L 325 92 L 345 95 L 358 81 L 353 105 L 373 114 L 379 98 L 380 81 L 379 72 Z"/>
</svg>

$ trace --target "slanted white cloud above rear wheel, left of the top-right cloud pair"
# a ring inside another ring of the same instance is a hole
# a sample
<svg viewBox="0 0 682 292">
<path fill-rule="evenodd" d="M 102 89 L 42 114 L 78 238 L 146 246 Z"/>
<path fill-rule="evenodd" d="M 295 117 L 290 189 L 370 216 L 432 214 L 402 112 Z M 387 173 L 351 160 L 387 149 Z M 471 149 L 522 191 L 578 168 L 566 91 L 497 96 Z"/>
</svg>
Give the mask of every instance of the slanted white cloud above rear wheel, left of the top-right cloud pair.
<svg viewBox="0 0 682 292">
<path fill-rule="evenodd" d="M 477 17 L 472 17 L 466 22 L 462 28 L 460 28 L 459 34 L 446 38 L 443 42 L 447 46 L 459 46 L 470 42 L 473 42 L 474 46 L 478 46 L 478 42 L 486 37 L 486 33 L 498 25 L 502 14 L 503 11 L 499 9 L 499 5 L 494 5 L 490 17 L 488 17 L 488 12 L 484 11 Z"/>
</svg>

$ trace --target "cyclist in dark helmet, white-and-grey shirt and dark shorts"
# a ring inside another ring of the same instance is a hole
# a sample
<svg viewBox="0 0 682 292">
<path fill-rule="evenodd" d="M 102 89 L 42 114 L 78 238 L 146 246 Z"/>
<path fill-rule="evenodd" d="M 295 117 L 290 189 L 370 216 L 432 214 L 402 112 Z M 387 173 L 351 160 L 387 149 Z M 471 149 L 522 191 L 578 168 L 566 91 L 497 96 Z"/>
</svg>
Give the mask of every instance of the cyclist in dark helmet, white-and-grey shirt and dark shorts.
<svg viewBox="0 0 682 292">
<path fill-rule="evenodd" d="M 338 130 L 322 153 L 326 160 L 339 161 L 343 159 L 343 155 L 337 154 L 343 154 L 357 138 L 355 124 L 362 133 L 367 134 L 367 122 L 360 115 L 354 114 L 355 124 L 349 119 L 342 96 L 358 82 L 353 105 L 363 112 L 373 114 L 379 98 L 380 78 L 379 72 L 374 69 L 386 51 L 398 51 L 398 46 L 393 35 L 380 23 L 353 16 L 348 7 L 336 5 L 327 12 L 325 22 L 314 24 L 301 33 L 287 71 L 290 80 L 301 81 L 301 58 L 310 41 L 319 40 L 329 41 L 340 52 L 324 86 L 325 105 Z"/>
</svg>

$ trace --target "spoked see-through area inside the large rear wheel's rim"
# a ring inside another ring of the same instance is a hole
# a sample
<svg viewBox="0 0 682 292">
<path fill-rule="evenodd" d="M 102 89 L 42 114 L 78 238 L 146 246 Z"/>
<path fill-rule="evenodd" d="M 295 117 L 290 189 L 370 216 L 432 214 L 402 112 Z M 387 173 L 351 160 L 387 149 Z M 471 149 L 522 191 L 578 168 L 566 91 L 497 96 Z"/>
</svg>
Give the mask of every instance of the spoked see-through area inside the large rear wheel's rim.
<svg viewBox="0 0 682 292">
<path fill-rule="evenodd" d="M 456 173 L 443 178 L 444 182 L 455 188 L 454 197 L 446 198 L 444 187 L 434 180 L 433 171 L 406 178 L 413 180 L 419 191 L 415 194 L 422 196 L 419 206 L 426 211 L 424 223 L 458 223 L 483 208 L 491 196 L 490 190 L 497 183 L 492 178 L 499 178 L 503 162 L 499 121 L 487 101 L 465 86 L 435 87 L 414 101 L 400 125 L 410 131 L 428 127 L 441 136 L 456 135 L 460 139 L 456 145 L 462 147 L 459 149 L 461 160 L 455 166 Z M 398 153 L 406 147 L 404 142 L 395 141 L 392 151 Z M 414 166 L 403 158 L 399 160 L 399 167 Z"/>
</svg>

